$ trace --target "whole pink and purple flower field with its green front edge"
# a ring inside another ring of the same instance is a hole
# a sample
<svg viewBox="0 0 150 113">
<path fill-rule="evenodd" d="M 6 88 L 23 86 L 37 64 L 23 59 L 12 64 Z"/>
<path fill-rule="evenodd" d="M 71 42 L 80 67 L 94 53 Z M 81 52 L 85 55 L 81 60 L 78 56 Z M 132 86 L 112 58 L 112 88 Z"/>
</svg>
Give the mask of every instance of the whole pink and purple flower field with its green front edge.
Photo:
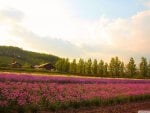
<svg viewBox="0 0 150 113">
<path fill-rule="evenodd" d="M 0 74 L 0 112 L 36 112 L 149 98 L 150 80 Z"/>
</svg>

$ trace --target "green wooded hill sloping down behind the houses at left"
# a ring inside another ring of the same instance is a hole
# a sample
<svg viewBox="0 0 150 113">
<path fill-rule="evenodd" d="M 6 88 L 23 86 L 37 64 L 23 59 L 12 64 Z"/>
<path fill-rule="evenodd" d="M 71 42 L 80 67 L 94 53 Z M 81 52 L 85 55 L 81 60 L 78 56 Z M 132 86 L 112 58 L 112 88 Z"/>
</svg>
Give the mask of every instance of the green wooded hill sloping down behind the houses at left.
<svg viewBox="0 0 150 113">
<path fill-rule="evenodd" d="M 18 47 L 0 46 L 0 67 L 8 67 L 13 59 L 22 64 L 23 67 L 29 67 L 31 65 L 39 65 L 47 62 L 55 64 L 59 57 L 26 51 Z"/>
</svg>

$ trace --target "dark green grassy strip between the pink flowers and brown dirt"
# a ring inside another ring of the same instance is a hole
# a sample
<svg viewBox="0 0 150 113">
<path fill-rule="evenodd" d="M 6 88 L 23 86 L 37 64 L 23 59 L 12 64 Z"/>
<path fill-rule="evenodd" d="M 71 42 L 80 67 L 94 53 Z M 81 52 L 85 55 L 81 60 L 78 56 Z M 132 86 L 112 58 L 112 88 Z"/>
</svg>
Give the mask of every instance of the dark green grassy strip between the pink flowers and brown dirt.
<svg viewBox="0 0 150 113">
<path fill-rule="evenodd" d="M 116 97 L 108 100 L 102 99 L 91 99 L 91 100 L 82 100 L 79 102 L 41 102 L 39 106 L 37 105 L 27 105 L 27 106 L 8 106 L 8 107 L 0 107 L 0 112 L 2 113 L 12 113 L 15 111 L 17 113 L 38 113 L 38 111 L 61 111 L 66 109 L 79 109 L 86 107 L 94 107 L 94 106 L 110 106 L 122 103 L 130 103 L 130 102 L 141 102 L 141 101 L 150 100 L 150 95 L 139 95 L 139 96 L 124 96 L 124 97 Z M 45 106 L 46 105 L 46 106 Z"/>
</svg>

